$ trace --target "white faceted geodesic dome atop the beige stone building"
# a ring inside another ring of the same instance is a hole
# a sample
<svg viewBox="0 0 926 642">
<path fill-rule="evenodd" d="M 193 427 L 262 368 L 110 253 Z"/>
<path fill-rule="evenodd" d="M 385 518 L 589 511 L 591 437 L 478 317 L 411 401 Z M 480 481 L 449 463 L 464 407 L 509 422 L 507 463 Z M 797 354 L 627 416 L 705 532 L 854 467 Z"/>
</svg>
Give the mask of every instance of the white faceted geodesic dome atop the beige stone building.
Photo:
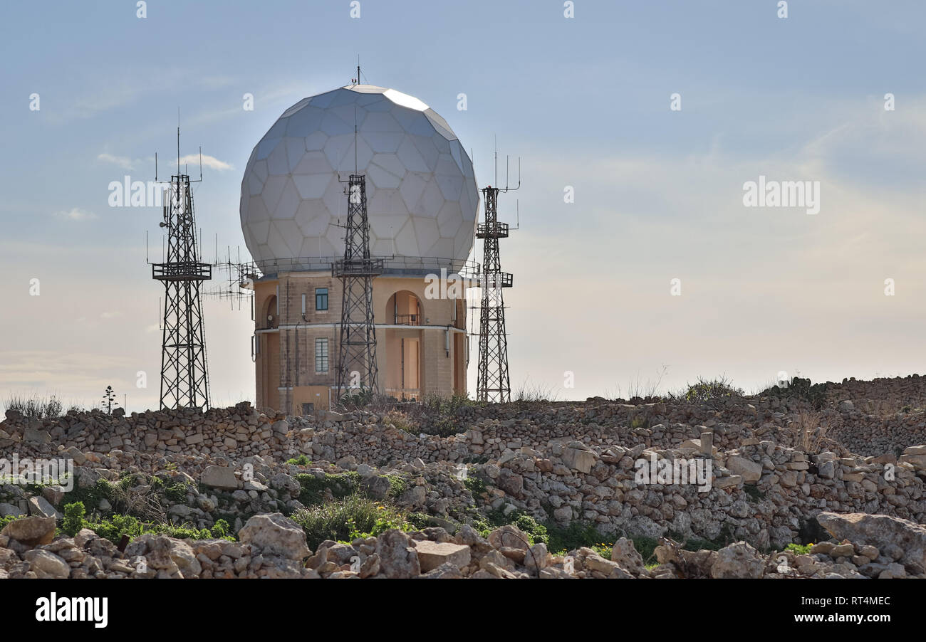
<svg viewBox="0 0 926 642">
<path fill-rule="evenodd" d="M 467 258 L 479 192 L 457 135 L 417 98 L 350 85 L 287 109 L 251 153 L 241 225 L 258 265 L 344 253 L 339 178 L 354 173 L 355 154 L 367 177 L 371 254 Z"/>
</svg>

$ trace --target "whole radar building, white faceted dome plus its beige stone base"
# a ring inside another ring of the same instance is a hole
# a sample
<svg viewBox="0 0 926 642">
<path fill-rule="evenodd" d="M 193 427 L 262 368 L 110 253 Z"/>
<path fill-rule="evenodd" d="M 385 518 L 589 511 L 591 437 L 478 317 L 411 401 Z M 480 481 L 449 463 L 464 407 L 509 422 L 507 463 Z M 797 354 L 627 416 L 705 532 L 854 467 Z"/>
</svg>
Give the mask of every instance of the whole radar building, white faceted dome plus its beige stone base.
<svg viewBox="0 0 926 642">
<path fill-rule="evenodd" d="M 469 155 L 417 98 L 350 85 L 293 105 L 244 170 L 244 241 L 255 289 L 257 407 L 327 409 L 337 379 L 344 180 L 367 177 L 379 391 L 397 399 L 466 393 L 467 271 L 479 192 Z M 446 279 L 446 280 L 444 280 Z M 449 281 L 449 283 L 448 283 Z M 449 285 L 449 287 L 448 287 Z"/>
</svg>

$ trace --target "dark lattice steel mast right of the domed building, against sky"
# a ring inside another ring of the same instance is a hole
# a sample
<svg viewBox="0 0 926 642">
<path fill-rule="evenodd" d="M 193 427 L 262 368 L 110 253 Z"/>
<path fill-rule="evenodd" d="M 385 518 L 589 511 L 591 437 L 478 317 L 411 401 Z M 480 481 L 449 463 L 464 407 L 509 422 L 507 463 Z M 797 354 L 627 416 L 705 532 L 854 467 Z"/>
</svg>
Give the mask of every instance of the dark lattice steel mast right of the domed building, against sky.
<svg viewBox="0 0 926 642">
<path fill-rule="evenodd" d="M 507 239 L 508 236 L 507 223 L 498 222 L 496 203 L 499 191 L 501 190 L 491 185 L 482 189 L 485 222 L 480 223 L 476 230 L 476 238 L 484 239 L 482 272 L 480 273 L 482 307 L 479 316 L 477 401 L 511 401 L 503 292 L 505 288 L 511 287 L 512 276 L 508 272 L 502 272 L 501 260 L 498 256 L 498 240 Z"/>
</svg>

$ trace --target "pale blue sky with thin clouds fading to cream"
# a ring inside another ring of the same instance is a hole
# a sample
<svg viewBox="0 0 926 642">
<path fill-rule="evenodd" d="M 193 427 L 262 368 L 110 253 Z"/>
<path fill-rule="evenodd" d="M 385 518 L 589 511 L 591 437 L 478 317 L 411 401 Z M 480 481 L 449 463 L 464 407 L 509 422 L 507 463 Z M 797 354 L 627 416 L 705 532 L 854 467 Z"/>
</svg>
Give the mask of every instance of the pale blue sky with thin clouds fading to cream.
<svg viewBox="0 0 926 642">
<path fill-rule="evenodd" d="M 90 406 L 112 385 L 130 412 L 156 406 L 160 212 L 109 206 L 109 183 L 154 179 L 155 153 L 169 175 L 179 110 L 181 155 L 205 159 L 206 258 L 247 258 L 251 150 L 287 107 L 348 84 L 357 56 L 366 81 L 446 118 L 481 187 L 496 141 L 521 158 L 499 200 L 520 221 L 501 241 L 515 394 L 926 371 L 926 5 L 566 4 L 6 3 L 0 404 Z M 759 177 L 809 181 L 819 212 L 746 206 Z M 248 310 L 205 315 L 213 403 L 253 400 Z"/>
</svg>

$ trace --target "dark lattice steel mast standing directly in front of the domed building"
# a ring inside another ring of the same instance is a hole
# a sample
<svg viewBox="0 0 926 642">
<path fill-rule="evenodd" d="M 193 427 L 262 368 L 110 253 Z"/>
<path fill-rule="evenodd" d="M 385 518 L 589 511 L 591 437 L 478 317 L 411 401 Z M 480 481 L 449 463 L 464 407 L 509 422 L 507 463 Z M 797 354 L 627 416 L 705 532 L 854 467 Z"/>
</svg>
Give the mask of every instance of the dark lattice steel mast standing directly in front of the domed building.
<svg viewBox="0 0 926 642">
<path fill-rule="evenodd" d="M 338 345 L 337 401 L 347 389 L 377 391 L 376 327 L 373 325 L 373 278 L 382 274 L 383 260 L 369 257 L 367 181 L 351 174 L 347 181 L 347 221 L 344 258 L 332 265 L 341 279 L 341 340 Z"/>
</svg>

